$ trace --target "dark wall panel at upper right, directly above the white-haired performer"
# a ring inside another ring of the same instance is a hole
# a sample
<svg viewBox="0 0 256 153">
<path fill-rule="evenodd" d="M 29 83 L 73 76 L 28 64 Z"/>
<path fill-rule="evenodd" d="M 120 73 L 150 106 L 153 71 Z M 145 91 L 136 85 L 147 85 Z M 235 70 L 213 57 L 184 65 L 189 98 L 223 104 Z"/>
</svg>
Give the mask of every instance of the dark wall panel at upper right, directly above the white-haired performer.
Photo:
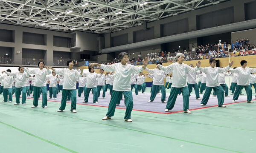
<svg viewBox="0 0 256 153">
<path fill-rule="evenodd" d="M 188 18 L 177 20 L 175 22 L 166 23 L 163 25 L 162 37 L 171 36 L 175 34 L 182 34 L 189 31 L 189 20 Z"/>
</svg>

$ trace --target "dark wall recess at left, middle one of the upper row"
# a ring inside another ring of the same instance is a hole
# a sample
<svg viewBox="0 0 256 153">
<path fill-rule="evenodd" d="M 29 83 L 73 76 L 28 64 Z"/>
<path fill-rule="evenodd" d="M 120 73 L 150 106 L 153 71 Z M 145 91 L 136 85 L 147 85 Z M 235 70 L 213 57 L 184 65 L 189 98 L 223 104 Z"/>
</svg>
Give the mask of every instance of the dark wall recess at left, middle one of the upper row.
<svg viewBox="0 0 256 153">
<path fill-rule="evenodd" d="M 46 37 L 46 34 L 23 32 L 22 43 L 34 45 L 47 45 Z"/>
</svg>

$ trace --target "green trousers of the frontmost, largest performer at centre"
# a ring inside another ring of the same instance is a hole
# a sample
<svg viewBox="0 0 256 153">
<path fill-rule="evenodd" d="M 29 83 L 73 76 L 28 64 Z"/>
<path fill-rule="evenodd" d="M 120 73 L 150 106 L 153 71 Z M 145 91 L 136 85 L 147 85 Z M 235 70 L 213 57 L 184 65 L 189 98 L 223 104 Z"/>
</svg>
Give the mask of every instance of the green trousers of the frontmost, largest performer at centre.
<svg viewBox="0 0 256 153">
<path fill-rule="evenodd" d="M 120 99 L 120 95 L 124 94 L 125 97 L 125 104 L 126 104 L 126 111 L 124 119 L 131 119 L 131 111 L 133 108 L 133 98 L 131 91 L 114 91 L 111 95 L 111 100 L 108 105 L 108 112 L 106 116 L 111 117 L 114 116 L 116 110 L 116 103 Z"/>
</svg>

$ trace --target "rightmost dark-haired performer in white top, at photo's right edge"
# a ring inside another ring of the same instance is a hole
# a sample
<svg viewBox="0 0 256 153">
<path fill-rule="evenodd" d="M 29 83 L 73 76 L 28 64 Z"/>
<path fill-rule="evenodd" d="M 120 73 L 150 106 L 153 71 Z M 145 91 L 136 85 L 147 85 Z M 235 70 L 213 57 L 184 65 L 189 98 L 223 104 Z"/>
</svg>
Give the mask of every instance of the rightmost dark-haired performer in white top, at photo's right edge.
<svg viewBox="0 0 256 153">
<path fill-rule="evenodd" d="M 244 88 L 247 94 L 247 102 L 253 103 L 252 88 L 250 87 L 249 79 L 250 79 L 250 74 L 256 72 L 256 68 L 246 67 L 247 66 L 246 60 L 241 60 L 240 64 L 241 64 L 241 67 L 231 70 L 231 73 L 238 74 L 236 90 L 235 90 L 232 102 L 236 102 L 236 100 L 239 97 L 240 91 L 242 90 L 242 88 Z"/>
</svg>

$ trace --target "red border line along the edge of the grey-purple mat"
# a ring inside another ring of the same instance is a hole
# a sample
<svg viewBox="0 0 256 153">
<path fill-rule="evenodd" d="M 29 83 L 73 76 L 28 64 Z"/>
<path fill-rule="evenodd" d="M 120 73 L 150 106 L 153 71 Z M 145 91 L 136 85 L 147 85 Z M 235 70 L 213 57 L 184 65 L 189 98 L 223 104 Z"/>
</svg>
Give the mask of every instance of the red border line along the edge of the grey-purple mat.
<svg viewBox="0 0 256 153">
<path fill-rule="evenodd" d="M 32 98 L 27 98 L 27 99 L 32 99 Z M 41 99 L 39 99 L 41 100 Z M 256 99 L 253 99 L 252 101 L 254 101 Z M 49 102 L 58 102 L 58 101 L 52 101 L 52 100 L 47 100 Z M 247 100 L 242 101 L 242 102 L 247 102 Z M 67 102 L 68 104 L 71 104 L 71 102 Z M 236 104 L 236 103 L 241 103 L 241 102 L 231 102 L 231 103 L 227 103 L 225 105 L 231 105 L 231 104 Z M 104 108 L 108 108 L 108 106 L 101 106 L 101 105 L 91 105 L 91 104 L 80 104 L 80 103 L 76 103 L 77 105 L 87 105 L 87 106 L 96 106 L 96 107 L 104 107 Z M 199 110 L 199 109 L 204 109 L 204 108 L 212 108 L 212 107 L 218 107 L 218 105 L 214 105 L 214 106 L 202 106 L 201 108 L 193 108 L 193 109 L 189 109 L 189 111 L 193 111 L 193 110 Z M 123 109 L 125 110 L 126 108 L 118 108 L 116 107 L 116 109 Z M 155 112 L 155 111 L 144 111 L 144 110 L 137 110 L 137 109 L 133 109 L 133 111 L 142 111 L 142 112 L 148 112 L 148 113 L 159 113 L 159 114 L 172 114 L 172 113 L 180 113 L 183 111 L 174 111 L 174 112 L 168 112 L 168 113 L 161 113 L 161 112 Z"/>
</svg>

